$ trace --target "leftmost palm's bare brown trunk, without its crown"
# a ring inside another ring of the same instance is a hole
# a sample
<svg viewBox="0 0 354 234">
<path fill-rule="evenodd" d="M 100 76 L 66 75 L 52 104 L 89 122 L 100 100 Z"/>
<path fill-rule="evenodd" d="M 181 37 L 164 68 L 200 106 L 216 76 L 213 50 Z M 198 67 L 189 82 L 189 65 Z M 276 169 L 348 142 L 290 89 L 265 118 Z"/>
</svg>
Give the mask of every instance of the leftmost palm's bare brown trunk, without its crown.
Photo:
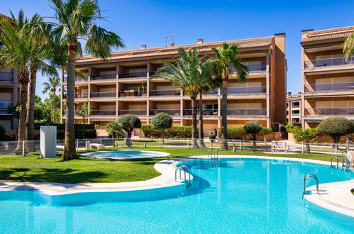
<svg viewBox="0 0 354 234">
<path fill-rule="evenodd" d="M 28 81 L 28 77 L 21 77 Z M 21 96 L 20 96 L 20 117 L 18 119 L 18 138 L 17 146 L 13 151 L 16 155 L 21 155 L 23 152 L 23 140 L 26 140 L 26 103 L 28 94 L 28 82 L 20 82 L 21 84 Z M 26 153 L 26 148 L 25 148 Z"/>
</svg>

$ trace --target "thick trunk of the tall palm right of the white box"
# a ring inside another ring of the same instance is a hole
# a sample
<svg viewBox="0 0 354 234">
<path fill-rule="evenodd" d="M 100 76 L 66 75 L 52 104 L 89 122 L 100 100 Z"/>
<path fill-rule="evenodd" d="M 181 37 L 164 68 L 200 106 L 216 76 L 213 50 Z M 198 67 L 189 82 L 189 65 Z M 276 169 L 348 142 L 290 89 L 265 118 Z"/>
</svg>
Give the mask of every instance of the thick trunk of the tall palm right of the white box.
<svg viewBox="0 0 354 234">
<path fill-rule="evenodd" d="M 74 134 L 74 88 L 75 88 L 76 51 L 69 49 L 67 57 L 67 112 L 65 121 L 64 152 L 62 160 L 77 158 Z"/>
</svg>

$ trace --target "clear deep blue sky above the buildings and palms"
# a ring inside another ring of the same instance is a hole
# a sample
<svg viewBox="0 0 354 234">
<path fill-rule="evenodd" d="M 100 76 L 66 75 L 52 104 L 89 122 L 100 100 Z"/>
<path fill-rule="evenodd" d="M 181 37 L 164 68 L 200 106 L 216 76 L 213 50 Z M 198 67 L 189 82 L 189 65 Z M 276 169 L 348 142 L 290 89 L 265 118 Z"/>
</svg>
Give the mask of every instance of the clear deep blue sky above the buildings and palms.
<svg viewBox="0 0 354 234">
<path fill-rule="evenodd" d="M 15 15 L 23 9 L 52 16 L 48 0 L 0 0 L 0 13 Z M 311 1 L 184 1 L 184 0 L 99 0 L 106 21 L 99 26 L 123 38 L 126 48 L 136 50 L 165 46 L 165 35 L 175 35 L 178 45 L 192 44 L 197 38 L 205 43 L 221 40 L 259 38 L 286 33 L 287 91 L 301 91 L 301 30 L 338 28 L 354 24 L 353 0 Z M 50 18 L 48 18 L 50 21 Z M 36 93 L 43 98 L 43 82 L 38 75 Z"/>
</svg>

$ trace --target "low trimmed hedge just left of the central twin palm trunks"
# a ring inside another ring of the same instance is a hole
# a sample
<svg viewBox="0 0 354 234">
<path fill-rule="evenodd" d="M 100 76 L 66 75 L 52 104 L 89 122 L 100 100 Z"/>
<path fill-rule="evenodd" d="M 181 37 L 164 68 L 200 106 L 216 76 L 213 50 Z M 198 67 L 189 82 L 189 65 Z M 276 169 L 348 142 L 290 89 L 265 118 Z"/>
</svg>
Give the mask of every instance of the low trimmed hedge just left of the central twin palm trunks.
<svg viewBox="0 0 354 234">
<path fill-rule="evenodd" d="M 151 124 L 145 124 L 140 128 L 146 138 L 162 138 L 162 130 L 153 128 Z M 165 129 L 165 138 L 192 138 L 192 126 L 172 126 Z"/>
</svg>

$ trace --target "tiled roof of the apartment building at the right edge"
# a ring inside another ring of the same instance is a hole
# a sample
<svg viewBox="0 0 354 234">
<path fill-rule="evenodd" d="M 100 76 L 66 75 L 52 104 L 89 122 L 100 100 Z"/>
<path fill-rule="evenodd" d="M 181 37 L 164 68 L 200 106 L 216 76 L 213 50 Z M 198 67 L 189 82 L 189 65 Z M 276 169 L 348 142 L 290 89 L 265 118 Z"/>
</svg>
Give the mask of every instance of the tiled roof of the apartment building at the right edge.
<svg viewBox="0 0 354 234">
<path fill-rule="evenodd" d="M 309 43 L 321 40 L 342 40 L 347 38 L 352 33 L 354 33 L 354 26 L 316 30 L 307 33 L 306 38 L 303 38 L 301 43 Z"/>
</svg>

